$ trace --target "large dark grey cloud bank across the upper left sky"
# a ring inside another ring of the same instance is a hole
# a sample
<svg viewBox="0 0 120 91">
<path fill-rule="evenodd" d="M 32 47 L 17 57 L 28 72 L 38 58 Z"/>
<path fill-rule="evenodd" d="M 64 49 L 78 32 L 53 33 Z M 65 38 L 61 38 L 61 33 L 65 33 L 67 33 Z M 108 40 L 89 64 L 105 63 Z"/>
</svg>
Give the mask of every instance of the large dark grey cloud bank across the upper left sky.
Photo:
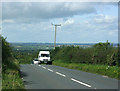
<svg viewBox="0 0 120 91">
<path fill-rule="evenodd" d="M 53 19 L 72 17 L 96 13 L 96 9 L 89 3 L 3 3 L 3 20 L 13 19 L 16 22 L 38 21 L 39 19 Z M 22 20 L 22 21 L 21 21 Z"/>
</svg>

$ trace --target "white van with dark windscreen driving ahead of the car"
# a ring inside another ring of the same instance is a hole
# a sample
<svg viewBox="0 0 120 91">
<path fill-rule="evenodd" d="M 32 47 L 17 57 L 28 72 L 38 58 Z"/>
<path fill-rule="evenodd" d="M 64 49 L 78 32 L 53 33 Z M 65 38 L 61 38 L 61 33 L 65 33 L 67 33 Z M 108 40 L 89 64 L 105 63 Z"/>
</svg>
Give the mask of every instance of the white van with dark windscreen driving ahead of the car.
<svg viewBox="0 0 120 91">
<path fill-rule="evenodd" d="M 38 54 L 38 60 L 41 63 L 45 64 L 52 64 L 52 61 L 50 60 L 50 52 L 49 51 L 40 51 Z"/>
</svg>

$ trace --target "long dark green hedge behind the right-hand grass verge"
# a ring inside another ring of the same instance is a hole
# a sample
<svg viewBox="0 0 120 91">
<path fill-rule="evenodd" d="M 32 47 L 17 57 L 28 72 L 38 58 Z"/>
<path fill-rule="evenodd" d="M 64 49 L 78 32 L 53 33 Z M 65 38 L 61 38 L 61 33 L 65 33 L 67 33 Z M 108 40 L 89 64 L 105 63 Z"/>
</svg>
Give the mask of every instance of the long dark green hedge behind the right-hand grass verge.
<svg viewBox="0 0 120 91">
<path fill-rule="evenodd" d="M 52 60 L 62 60 L 67 63 L 86 63 L 118 65 L 118 48 L 108 41 L 98 43 L 89 48 L 62 46 L 51 51 Z"/>
</svg>

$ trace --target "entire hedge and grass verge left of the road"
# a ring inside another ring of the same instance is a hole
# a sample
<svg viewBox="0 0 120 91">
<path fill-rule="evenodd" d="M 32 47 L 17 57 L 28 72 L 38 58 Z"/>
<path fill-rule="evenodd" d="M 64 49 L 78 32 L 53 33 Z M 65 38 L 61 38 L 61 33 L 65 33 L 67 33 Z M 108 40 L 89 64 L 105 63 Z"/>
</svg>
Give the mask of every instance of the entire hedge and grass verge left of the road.
<svg viewBox="0 0 120 91">
<path fill-rule="evenodd" d="M 19 62 L 13 57 L 10 44 L 2 39 L 2 90 L 24 89 L 24 84 L 19 74 Z"/>
</svg>

